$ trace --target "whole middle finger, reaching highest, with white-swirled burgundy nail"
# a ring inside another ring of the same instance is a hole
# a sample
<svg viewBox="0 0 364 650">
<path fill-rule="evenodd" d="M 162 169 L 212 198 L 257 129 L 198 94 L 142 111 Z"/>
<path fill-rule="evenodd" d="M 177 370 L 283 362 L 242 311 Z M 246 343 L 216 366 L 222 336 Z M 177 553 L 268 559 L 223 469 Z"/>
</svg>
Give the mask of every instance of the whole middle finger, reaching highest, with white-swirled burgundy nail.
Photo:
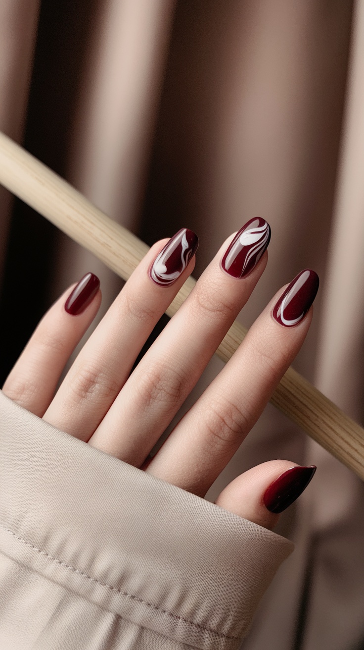
<svg viewBox="0 0 364 650">
<path fill-rule="evenodd" d="M 225 242 L 92 435 L 94 447 L 137 467 L 199 379 L 265 265 L 271 230 L 251 219 Z"/>
</svg>

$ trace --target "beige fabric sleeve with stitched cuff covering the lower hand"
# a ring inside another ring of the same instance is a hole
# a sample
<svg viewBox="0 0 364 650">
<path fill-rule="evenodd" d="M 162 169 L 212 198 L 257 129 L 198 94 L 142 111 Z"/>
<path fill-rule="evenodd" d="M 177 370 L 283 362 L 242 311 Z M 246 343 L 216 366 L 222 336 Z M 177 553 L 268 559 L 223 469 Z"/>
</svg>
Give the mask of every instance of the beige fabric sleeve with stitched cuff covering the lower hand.
<svg viewBox="0 0 364 650">
<path fill-rule="evenodd" d="M 2 650 L 230 650 L 293 544 L 0 391 Z"/>
</svg>

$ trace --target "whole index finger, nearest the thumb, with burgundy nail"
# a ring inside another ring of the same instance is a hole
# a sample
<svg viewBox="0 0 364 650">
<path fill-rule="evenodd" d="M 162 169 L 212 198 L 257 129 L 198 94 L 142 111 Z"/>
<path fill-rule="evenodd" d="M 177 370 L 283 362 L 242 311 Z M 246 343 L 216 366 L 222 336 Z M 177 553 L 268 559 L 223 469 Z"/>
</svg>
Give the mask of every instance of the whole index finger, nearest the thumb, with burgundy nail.
<svg viewBox="0 0 364 650">
<path fill-rule="evenodd" d="M 230 361 L 142 469 L 206 494 L 300 350 L 318 287 L 317 274 L 306 269 L 274 296 Z"/>
</svg>

